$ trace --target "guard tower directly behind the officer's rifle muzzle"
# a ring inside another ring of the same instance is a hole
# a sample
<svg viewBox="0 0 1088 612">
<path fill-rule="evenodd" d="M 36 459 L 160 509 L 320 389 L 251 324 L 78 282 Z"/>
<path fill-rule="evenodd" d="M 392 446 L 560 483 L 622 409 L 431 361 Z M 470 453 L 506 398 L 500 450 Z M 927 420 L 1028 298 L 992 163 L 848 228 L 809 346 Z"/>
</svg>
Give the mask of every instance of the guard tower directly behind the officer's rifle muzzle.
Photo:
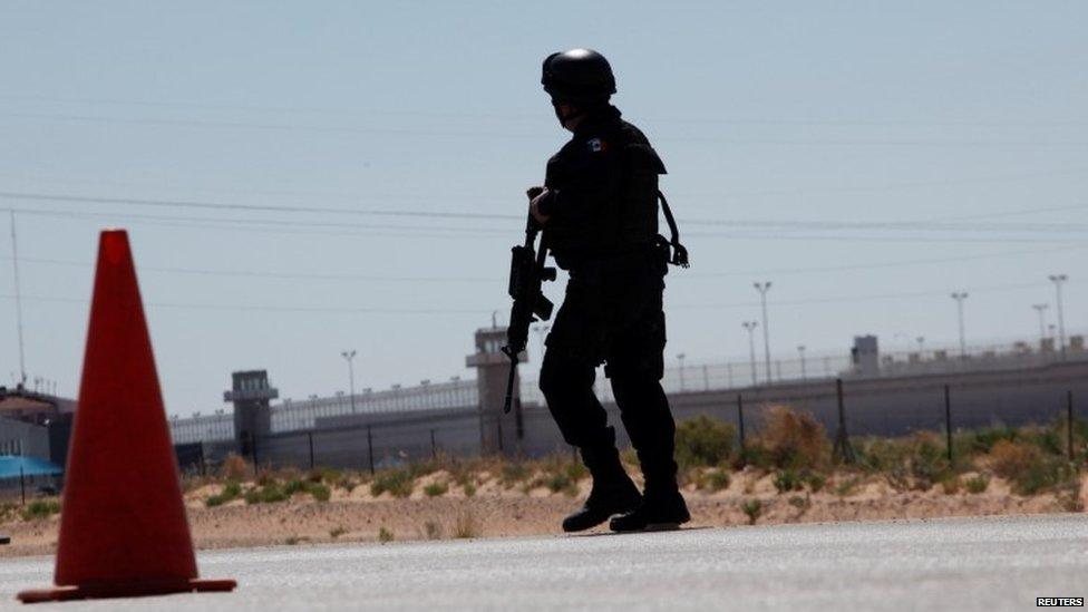
<svg viewBox="0 0 1088 612">
<path fill-rule="evenodd" d="M 476 368 L 479 448 L 485 455 L 516 455 L 525 437 L 518 372 L 514 373 L 514 407 L 511 415 L 503 414 L 509 376 L 509 359 L 502 351 L 505 343 L 506 328 L 480 328 L 476 330 L 476 352 L 465 358 L 465 366 Z M 523 351 L 518 359 L 525 363 L 528 356 Z"/>
</svg>

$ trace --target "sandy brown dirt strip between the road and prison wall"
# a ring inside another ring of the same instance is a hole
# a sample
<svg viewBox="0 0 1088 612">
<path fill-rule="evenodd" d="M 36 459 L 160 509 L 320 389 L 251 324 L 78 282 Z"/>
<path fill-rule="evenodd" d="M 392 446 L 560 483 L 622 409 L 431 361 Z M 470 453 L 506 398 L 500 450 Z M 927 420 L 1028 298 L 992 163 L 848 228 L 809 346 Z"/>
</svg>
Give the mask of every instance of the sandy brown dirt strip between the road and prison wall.
<svg viewBox="0 0 1088 612">
<path fill-rule="evenodd" d="M 448 484 L 448 490 L 428 496 L 425 487 L 433 483 Z M 223 488 L 210 484 L 187 492 L 185 503 L 196 546 L 220 548 L 558 534 L 562 517 L 581 504 L 589 489 L 585 479 L 576 495 L 573 490 L 553 493 L 543 486 L 504 486 L 486 473 L 478 475 L 476 483 L 475 493 L 467 496 L 450 475 L 437 472 L 419 478 L 405 498 L 389 493 L 373 496 L 369 486 L 360 485 L 350 492 L 334 487 L 327 502 L 299 493 L 286 502 L 246 504 L 234 499 L 207 507 L 206 499 Z M 1080 507 L 1088 507 L 1088 486 L 1084 486 L 1088 477 L 1081 485 Z M 709 492 L 688 485 L 684 496 L 692 514 L 691 526 L 715 527 L 750 524 L 755 501 L 759 505 L 756 524 L 1045 514 L 1076 507 L 1052 493 L 1016 495 L 1000 478 L 993 478 L 987 490 L 972 494 L 962 486 L 948 493 L 941 485 L 925 492 L 900 492 L 880 477 L 836 475 L 817 493 L 779 493 L 771 475 L 740 472 L 725 489 Z M 54 552 L 58 525 L 57 515 L 37 521 L 9 517 L 0 524 L 0 533 L 10 535 L 11 543 L 0 546 L 0 556 Z M 606 530 L 606 525 L 599 530 Z"/>
</svg>

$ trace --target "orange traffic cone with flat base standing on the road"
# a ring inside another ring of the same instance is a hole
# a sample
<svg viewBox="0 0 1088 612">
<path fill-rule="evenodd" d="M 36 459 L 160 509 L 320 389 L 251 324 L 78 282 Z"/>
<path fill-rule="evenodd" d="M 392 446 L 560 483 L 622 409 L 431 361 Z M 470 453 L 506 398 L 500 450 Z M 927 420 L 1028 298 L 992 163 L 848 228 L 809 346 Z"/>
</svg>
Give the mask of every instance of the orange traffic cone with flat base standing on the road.
<svg viewBox="0 0 1088 612">
<path fill-rule="evenodd" d="M 26 603 L 231 591 L 198 580 L 124 230 L 105 231 L 60 514 L 57 586 Z"/>
</svg>

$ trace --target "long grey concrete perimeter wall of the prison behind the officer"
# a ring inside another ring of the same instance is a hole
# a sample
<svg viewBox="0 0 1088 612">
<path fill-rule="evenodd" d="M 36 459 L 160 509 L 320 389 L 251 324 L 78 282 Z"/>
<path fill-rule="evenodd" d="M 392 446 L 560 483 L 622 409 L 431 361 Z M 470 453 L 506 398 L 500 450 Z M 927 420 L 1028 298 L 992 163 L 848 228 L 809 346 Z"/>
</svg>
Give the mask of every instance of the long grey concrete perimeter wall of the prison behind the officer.
<svg viewBox="0 0 1088 612">
<path fill-rule="evenodd" d="M 951 388 L 953 428 L 981 427 L 994 422 L 1023 425 L 1046 422 L 1065 412 L 1067 391 L 1072 391 L 1077 410 L 1088 415 L 1088 362 L 1051 363 L 1016 371 L 963 372 L 946 376 L 856 379 L 844 382 L 847 430 L 852 436 L 896 436 L 917 429 L 944 426 L 944 386 Z M 769 406 L 786 405 L 810 412 L 835 433 L 837 397 L 835 380 L 776 385 L 766 388 L 672 394 L 670 401 L 678 419 L 700 414 L 736 422 L 737 396 L 745 405 L 749 431 L 759 428 L 761 412 Z M 614 405 L 606 405 L 616 425 L 621 445 L 629 444 Z M 514 440 L 514 454 L 541 456 L 570 453 L 546 407 L 523 406 L 524 437 Z M 258 458 L 275 466 L 314 465 L 366 469 L 371 453 L 375 467 L 430 457 L 433 453 L 458 456 L 480 454 L 479 412 L 476 407 L 433 410 L 406 415 L 354 415 L 318 420 L 312 431 L 273 434 L 259 441 Z M 513 415 L 504 428 L 514 430 Z M 369 439 L 368 439 L 369 431 Z M 505 437 L 505 436 L 504 436 Z M 205 448 L 215 462 L 225 456 L 229 445 Z"/>
</svg>

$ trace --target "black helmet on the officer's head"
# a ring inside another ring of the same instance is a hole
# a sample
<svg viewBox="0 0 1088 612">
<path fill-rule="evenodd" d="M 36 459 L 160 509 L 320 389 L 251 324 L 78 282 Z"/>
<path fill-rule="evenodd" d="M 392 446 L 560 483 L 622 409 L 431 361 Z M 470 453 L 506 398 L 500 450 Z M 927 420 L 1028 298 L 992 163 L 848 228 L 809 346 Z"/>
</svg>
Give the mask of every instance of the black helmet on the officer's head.
<svg viewBox="0 0 1088 612">
<path fill-rule="evenodd" d="M 547 56 L 541 84 L 553 103 L 602 104 L 615 94 L 615 77 L 609 60 L 592 49 Z"/>
</svg>

